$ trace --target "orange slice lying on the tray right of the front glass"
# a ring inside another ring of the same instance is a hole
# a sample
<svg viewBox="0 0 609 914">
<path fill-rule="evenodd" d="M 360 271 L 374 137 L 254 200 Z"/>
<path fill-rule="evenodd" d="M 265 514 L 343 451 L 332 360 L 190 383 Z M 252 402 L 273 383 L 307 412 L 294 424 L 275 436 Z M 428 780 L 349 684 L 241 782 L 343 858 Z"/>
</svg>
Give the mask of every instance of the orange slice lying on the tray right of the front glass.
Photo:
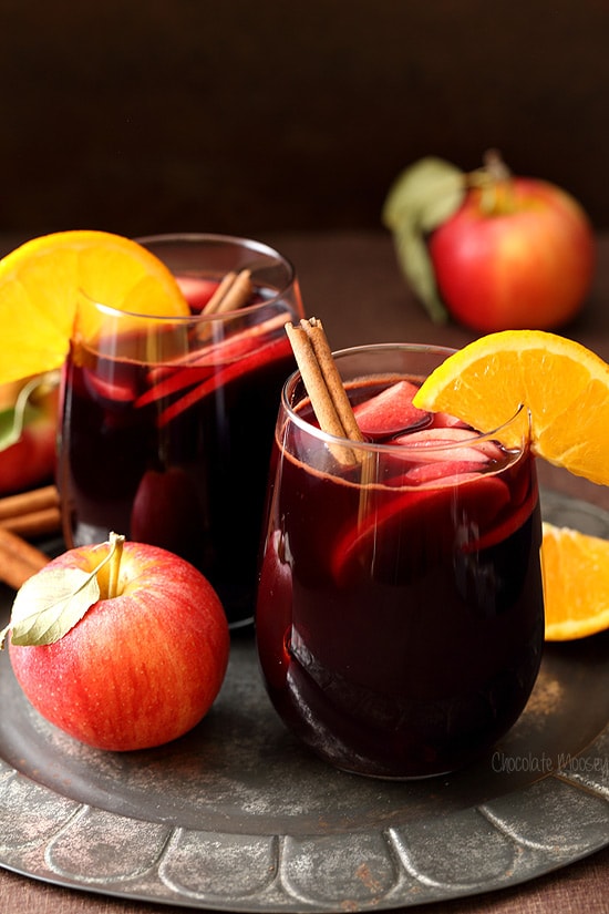
<svg viewBox="0 0 609 914">
<path fill-rule="evenodd" d="M 546 640 L 609 628 L 609 541 L 544 523 Z"/>
</svg>

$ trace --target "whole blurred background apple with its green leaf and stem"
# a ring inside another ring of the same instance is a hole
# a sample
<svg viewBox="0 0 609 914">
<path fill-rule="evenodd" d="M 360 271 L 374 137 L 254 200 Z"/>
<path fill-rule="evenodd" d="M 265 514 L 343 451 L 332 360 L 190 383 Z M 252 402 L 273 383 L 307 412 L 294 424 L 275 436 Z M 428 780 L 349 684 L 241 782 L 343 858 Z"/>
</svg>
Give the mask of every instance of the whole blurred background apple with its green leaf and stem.
<svg viewBox="0 0 609 914">
<path fill-rule="evenodd" d="M 546 181 L 513 176 L 491 152 L 463 174 L 422 160 L 385 203 L 402 266 L 435 320 L 481 332 L 551 329 L 585 304 L 595 242 L 588 217 Z"/>
</svg>

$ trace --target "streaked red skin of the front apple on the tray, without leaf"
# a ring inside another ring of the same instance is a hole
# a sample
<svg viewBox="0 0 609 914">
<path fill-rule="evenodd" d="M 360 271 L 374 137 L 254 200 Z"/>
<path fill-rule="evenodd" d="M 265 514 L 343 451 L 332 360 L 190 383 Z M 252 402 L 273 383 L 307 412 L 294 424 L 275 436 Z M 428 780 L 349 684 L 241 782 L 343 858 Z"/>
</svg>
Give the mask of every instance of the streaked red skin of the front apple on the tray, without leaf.
<svg viewBox="0 0 609 914">
<path fill-rule="evenodd" d="M 70 550 L 38 575 L 92 571 L 107 548 Z M 103 572 L 99 581 L 103 597 Z M 126 542 L 120 581 L 118 595 L 95 603 L 60 640 L 9 641 L 9 656 L 47 720 L 97 749 L 130 751 L 169 742 L 207 713 L 224 681 L 229 633 L 211 585 L 173 553 Z"/>
</svg>

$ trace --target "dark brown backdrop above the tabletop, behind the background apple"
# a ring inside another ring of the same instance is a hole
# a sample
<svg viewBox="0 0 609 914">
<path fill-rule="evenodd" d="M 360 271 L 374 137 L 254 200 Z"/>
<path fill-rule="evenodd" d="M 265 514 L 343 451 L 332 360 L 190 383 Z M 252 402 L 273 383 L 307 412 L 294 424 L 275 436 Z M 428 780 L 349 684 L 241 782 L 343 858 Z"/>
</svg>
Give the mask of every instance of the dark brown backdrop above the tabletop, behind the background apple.
<svg viewBox="0 0 609 914">
<path fill-rule="evenodd" d="M 606 0 L 2 0 L 0 232 L 376 228 L 499 146 L 609 227 Z"/>
</svg>

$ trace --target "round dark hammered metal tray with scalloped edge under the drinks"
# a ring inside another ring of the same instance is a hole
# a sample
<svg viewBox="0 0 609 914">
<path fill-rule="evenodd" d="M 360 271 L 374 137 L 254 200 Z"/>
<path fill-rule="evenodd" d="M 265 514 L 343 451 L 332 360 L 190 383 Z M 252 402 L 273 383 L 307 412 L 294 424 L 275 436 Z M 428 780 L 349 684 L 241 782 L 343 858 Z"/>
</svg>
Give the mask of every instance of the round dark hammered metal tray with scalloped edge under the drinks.
<svg viewBox="0 0 609 914">
<path fill-rule="evenodd" d="M 606 512 L 551 492 L 543 504 L 547 520 L 609 537 Z M 609 844 L 608 661 L 609 633 L 548 645 L 525 712 L 492 752 L 458 774 L 396 783 L 334 771 L 297 743 L 250 638 L 234 641 L 195 730 L 127 754 L 48 725 L 4 653 L 0 865 L 235 912 L 406 907 L 524 882 Z"/>
</svg>

